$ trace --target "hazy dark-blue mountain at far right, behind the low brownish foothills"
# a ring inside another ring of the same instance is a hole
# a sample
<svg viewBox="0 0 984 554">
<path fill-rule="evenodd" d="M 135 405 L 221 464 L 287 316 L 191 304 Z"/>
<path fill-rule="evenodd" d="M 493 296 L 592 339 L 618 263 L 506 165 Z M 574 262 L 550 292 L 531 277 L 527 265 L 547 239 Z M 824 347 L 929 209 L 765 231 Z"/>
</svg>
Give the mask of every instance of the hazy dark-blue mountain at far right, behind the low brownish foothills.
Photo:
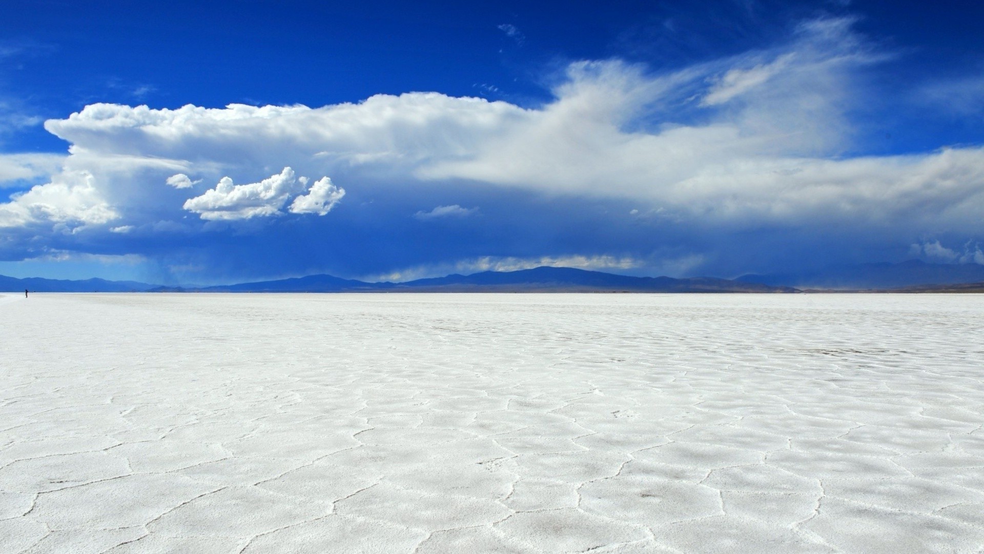
<svg viewBox="0 0 984 554">
<path fill-rule="evenodd" d="M 900 289 L 920 285 L 981 282 L 984 281 L 984 265 L 908 260 L 900 263 L 843 265 L 809 272 L 743 275 L 736 281 L 798 289 Z"/>
</svg>

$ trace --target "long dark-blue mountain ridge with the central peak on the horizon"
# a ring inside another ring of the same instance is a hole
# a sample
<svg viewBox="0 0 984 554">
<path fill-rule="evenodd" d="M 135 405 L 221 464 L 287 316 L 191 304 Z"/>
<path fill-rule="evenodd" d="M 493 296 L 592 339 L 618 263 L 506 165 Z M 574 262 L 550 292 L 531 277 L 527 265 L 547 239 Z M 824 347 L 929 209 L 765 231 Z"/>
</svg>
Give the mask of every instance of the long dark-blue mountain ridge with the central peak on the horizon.
<svg viewBox="0 0 984 554">
<path fill-rule="evenodd" d="M 172 289 L 173 290 L 173 289 Z M 632 292 L 632 293 L 789 293 L 794 289 L 739 283 L 713 277 L 629 277 L 570 267 L 520 271 L 484 271 L 405 283 L 366 283 L 331 275 L 242 283 L 199 289 L 202 292 Z"/>
</svg>

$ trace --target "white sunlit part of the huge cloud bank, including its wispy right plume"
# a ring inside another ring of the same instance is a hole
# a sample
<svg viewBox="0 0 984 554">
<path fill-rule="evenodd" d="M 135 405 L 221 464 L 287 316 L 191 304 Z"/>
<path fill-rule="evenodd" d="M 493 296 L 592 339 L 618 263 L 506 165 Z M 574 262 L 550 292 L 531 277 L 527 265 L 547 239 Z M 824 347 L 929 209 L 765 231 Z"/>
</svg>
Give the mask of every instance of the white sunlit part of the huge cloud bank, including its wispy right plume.
<svg viewBox="0 0 984 554">
<path fill-rule="evenodd" d="M 438 93 L 319 108 L 92 104 L 45 123 L 72 144 L 65 170 L 0 205 L 0 221 L 17 226 L 83 213 L 44 208 L 49 189 L 49 196 L 85 195 L 86 202 L 63 203 L 95 210 L 77 217 L 87 224 L 116 214 L 128 223 L 131 215 L 175 221 L 182 206 L 207 220 L 271 216 L 285 207 L 324 214 L 338 202 L 342 189 L 330 181 L 305 190 L 292 172 L 242 185 L 223 177 L 252 179 L 286 167 L 345 175 L 350 192 L 366 183 L 411 189 L 405 194 L 480 183 L 626 199 L 640 214 L 695 229 L 847 224 L 909 236 L 941 228 L 980 233 L 984 148 L 843 155 L 858 150 L 850 109 L 867 102 L 854 77 L 877 58 L 849 21 L 822 20 L 787 44 L 675 72 L 577 62 L 555 99 L 535 108 Z M 89 188 L 67 184 L 78 172 L 92 175 Z M 159 186 L 187 174 L 223 178 L 191 198 L 175 187 L 190 177 Z"/>
</svg>

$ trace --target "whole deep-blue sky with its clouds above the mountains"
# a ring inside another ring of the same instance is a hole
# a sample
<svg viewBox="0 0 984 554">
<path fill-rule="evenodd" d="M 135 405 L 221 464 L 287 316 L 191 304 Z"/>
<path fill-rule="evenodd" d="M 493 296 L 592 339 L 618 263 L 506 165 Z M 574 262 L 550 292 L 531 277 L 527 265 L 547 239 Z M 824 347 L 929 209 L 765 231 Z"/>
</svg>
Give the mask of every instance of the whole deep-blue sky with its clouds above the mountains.
<svg viewBox="0 0 984 554">
<path fill-rule="evenodd" d="M 984 264 L 973 1 L 9 2 L 0 274 Z"/>
</svg>

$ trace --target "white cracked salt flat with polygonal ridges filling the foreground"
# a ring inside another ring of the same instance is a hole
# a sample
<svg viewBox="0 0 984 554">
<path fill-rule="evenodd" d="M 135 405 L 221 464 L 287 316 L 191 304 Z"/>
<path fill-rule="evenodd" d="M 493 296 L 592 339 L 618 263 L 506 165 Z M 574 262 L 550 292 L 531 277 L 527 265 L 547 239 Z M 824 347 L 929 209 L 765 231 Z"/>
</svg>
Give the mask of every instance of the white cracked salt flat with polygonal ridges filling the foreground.
<svg viewBox="0 0 984 554">
<path fill-rule="evenodd" d="M 0 295 L 0 553 L 982 552 L 977 295 Z"/>
</svg>

